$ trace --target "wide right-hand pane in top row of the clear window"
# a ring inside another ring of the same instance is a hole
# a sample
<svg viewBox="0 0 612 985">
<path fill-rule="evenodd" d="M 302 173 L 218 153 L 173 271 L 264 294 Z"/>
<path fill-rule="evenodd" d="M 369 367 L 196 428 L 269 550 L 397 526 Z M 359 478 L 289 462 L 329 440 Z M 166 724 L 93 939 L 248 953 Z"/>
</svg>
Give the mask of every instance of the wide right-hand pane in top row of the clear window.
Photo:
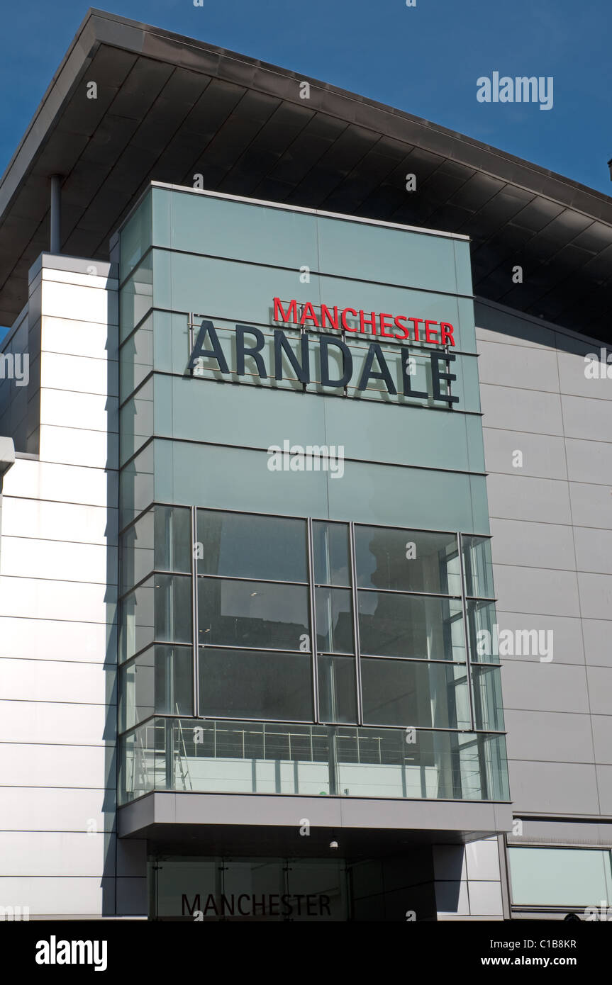
<svg viewBox="0 0 612 985">
<path fill-rule="evenodd" d="M 461 594 L 454 534 L 356 526 L 355 560 L 360 588 Z"/>
</svg>

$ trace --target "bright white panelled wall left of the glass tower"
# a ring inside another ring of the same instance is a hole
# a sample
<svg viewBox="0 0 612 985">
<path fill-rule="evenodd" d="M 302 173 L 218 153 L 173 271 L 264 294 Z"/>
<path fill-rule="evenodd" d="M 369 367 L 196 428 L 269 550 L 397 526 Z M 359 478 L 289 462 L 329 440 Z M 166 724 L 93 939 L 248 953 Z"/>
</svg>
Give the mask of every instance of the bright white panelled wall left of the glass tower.
<svg viewBox="0 0 612 985">
<path fill-rule="evenodd" d="M 145 914 L 144 842 L 114 834 L 117 283 L 43 264 L 39 459 L 4 482 L 0 904 Z"/>
</svg>

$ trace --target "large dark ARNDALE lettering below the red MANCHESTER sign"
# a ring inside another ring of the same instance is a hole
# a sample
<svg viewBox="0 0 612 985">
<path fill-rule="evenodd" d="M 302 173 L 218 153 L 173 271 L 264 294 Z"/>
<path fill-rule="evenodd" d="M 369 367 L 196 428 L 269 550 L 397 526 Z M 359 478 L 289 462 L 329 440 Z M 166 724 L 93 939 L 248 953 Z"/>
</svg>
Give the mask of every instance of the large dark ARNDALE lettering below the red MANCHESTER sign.
<svg viewBox="0 0 612 985">
<path fill-rule="evenodd" d="M 363 369 L 359 378 L 353 381 L 354 363 L 353 354 L 349 347 L 341 339 L 333 335 L 307 335 L 300 338 L 287 338 L 285 332 L 274 329 L 273 346 L 273 365 L 270 367 L 271 375 L 274 379 L 281 380 L 285 376 L 283 369 L 283 357 L 287 360 L 294 373 L 295 379 L 300 383 L 316 382 L 310 379 L 309 362 L 309 342 L 314 341 L 319 347 L 319 361 L 321 369 L 321 386 L 339 389 L 350 386 L 351 384 L 358 390 L 364 391 L 371 379 L 379 379 L 384 383 L 387 393 L 395 396 L 397 387 L 393 382 L 389 364 L 385 359 L 384 353 L 377 342 L 371 342 L 366 353 Z M 260 329 L 252 325 L 236 326 L 236 369 L 233 371 L 228 365 L 228 361 L 219 342 L 217 331 L 212 321 L 203 321 L 198 331 L 198 336 L 189 357 L 187 369 L 193 375 L 198 362 L 203 360 L 215 360 L 216 366 L 207 366 L 222 373 L 222 375 L 257 375 L 261 379 L 268 379 L 268 372 L 263 357 L 266 340 Z M 330 367 L 330 350 L 339 359 L 340 365 Z M 335 350 L 335 353 L 333 351 Z M 442 380 L 446 383 L 447 390 L 449 384 L 457 377 L 454 373 L 442 371 L 442 363 L 448 369 L 448 363 L 454 362 L 456 357 L 453 353 L 438 351 L 428 353 L 431 363 L 431 392 L 416 390 L 412 386 L 412 372 L 414 357 L 407 346 L 398 346 L 399 361 L 401 364 L 401 386 L 405 397 L 412 397 L 419 400 L 439 400 L 442 403 L 458 403 L 458 396 L 450 392 L 442 392 Z M 430 375 L 430 374 L 428 374 Z"/>
</svg>

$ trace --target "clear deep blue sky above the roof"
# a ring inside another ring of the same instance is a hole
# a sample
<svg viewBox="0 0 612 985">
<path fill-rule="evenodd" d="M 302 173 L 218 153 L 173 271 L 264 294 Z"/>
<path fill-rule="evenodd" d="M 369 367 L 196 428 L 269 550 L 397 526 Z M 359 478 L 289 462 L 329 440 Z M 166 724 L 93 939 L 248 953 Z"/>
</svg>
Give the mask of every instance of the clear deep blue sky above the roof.
<svg viewBox="0 0 612 985">
<path fill-rule="evenodd" d="M 108 9 L 389 103 L 612 194 L 610 0 L 112 0 Z M 86 11 L 77 0 L 3 5 L 0 171 Z M 553 108 L 478 102 L 477 78 L 494 71 L 552 76 Z"/>
</svg>

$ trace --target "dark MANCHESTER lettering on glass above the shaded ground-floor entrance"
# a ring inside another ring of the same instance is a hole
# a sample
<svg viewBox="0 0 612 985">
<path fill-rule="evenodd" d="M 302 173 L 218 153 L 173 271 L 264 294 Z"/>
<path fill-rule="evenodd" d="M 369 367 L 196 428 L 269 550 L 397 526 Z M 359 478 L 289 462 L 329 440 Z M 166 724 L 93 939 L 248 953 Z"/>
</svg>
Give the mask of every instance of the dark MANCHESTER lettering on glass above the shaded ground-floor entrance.
<svg viewBox="0 0 612 985">
<path fill-rule="evenodd" d="M 202 905 L 203 901 L 203 905 Z M 307 892 L 292 895 L 290 893 L 268 893 L 259 895 L 241 892 L 238 896 L 216 896 L 209 892 L 200 896 L 198 892 L 191 902 L 185 893 L 181 896 L 181 915 L 195 918 L 202 917 L 323 917 L 331 916 L 330 899 L 324 893 Z"/>
</svg>

